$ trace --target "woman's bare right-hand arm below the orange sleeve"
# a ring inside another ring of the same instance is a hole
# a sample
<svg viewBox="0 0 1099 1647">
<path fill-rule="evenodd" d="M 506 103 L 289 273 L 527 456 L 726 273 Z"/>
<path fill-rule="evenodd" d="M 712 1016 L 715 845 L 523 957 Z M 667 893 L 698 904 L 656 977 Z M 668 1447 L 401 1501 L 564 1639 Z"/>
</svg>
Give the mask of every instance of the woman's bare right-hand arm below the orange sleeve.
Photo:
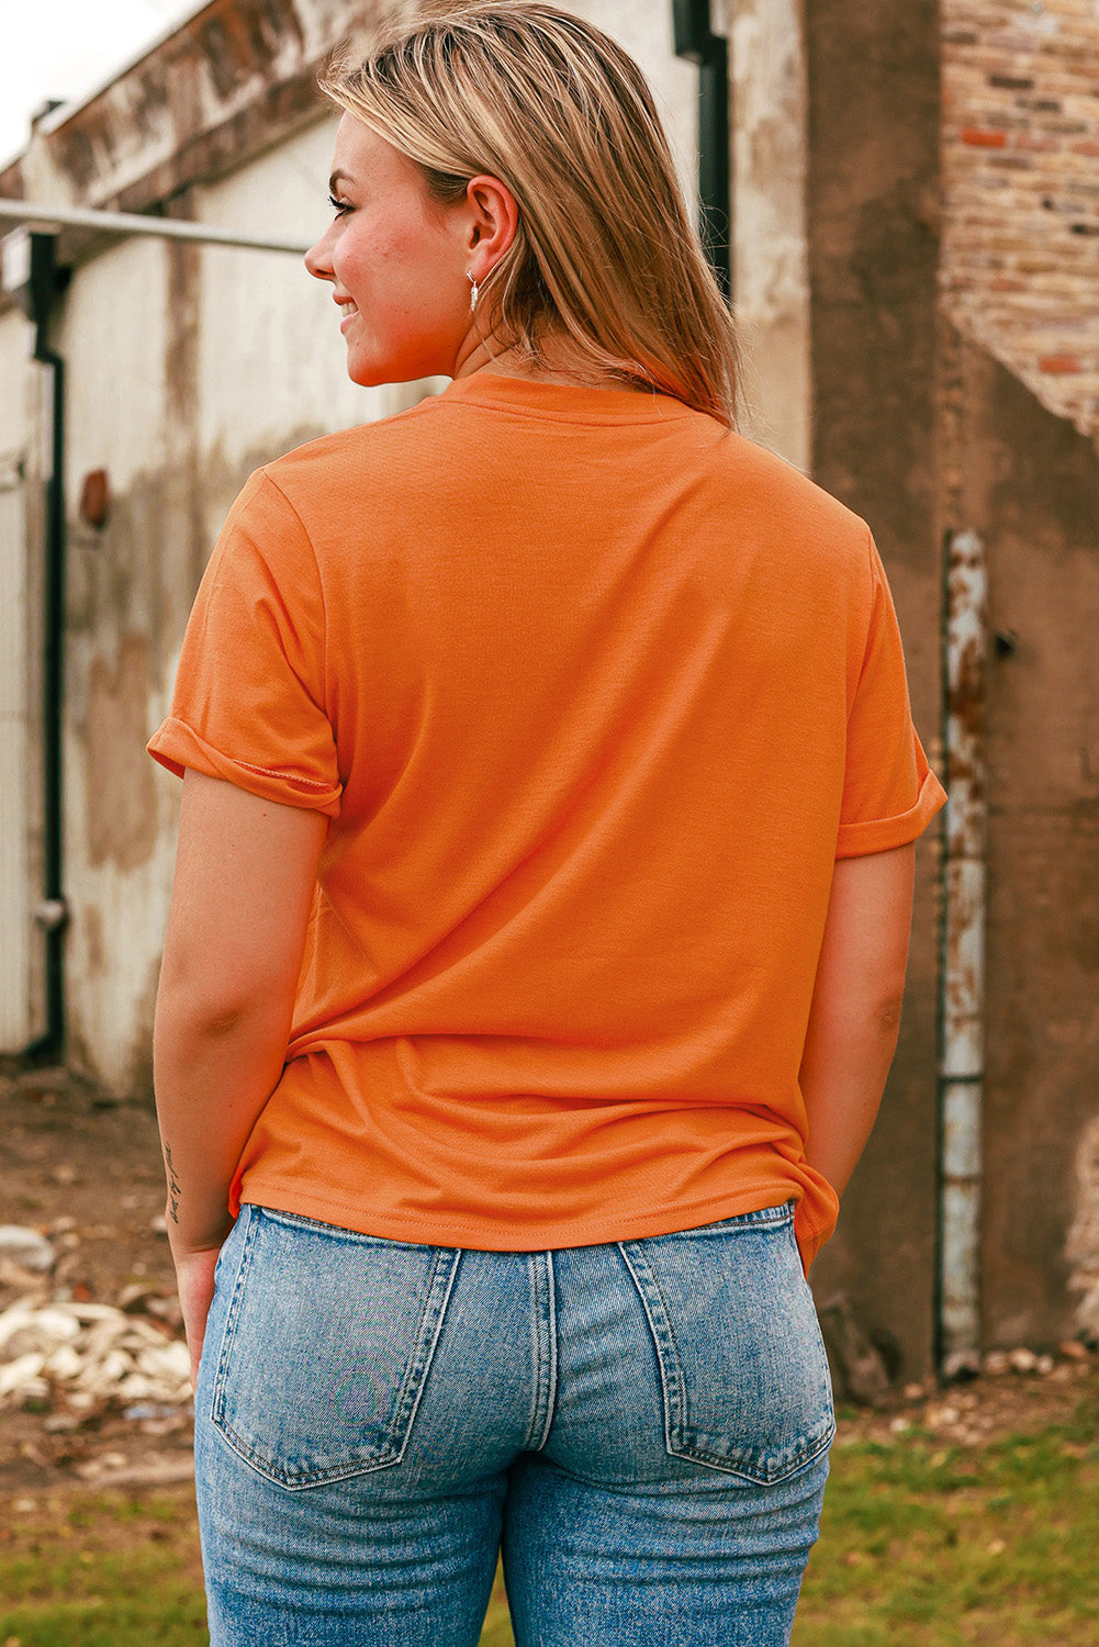
<svg viewBox="0 0 1099 1647">
<path fill-rule="evenodd" d="M 801 1062 L 806 1159 L 842 1196 L 896 1051 L 916 848 L 840 858 Z"/>
</svg>

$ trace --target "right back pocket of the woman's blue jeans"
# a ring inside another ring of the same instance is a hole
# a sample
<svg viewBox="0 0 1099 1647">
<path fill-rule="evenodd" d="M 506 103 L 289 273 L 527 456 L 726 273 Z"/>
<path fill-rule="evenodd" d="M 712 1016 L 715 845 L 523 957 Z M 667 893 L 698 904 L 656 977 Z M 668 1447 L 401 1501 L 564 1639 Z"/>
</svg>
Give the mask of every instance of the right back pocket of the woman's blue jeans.
<svg viewBox="0 0 1099 1647">
<path fill-rule="evenodd" d="M 620 1243 L 649 1321 L 667 1451 L 773 1484 L 832 1439 L 832 1387 L 793 1207 Z"/>
</svg>

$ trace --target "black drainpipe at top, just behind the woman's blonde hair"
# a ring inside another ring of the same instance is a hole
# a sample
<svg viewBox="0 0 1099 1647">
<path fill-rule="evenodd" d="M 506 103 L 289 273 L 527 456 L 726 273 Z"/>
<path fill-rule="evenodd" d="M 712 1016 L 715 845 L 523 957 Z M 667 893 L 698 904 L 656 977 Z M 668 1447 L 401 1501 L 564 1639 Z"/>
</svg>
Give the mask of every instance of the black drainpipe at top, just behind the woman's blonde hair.
<svg viewBox="0 0 1099 1647">
<path fill-rule="evenodd" d="M 728 41 L 710 28 L 710 0 L 672 0 L 676 56 L 699 64 L 699 196 L 702 244 L 732 296 L 732 180 L 728 165 Z"/>
</svg>

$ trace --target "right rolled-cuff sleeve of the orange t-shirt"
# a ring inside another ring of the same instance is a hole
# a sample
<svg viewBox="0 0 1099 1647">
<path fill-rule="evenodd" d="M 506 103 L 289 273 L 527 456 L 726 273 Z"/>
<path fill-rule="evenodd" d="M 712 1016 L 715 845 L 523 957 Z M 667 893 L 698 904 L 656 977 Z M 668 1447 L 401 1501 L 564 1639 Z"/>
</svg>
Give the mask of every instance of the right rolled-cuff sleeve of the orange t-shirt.
<svg viewBox="0 0 1099 1647">
<path fill-rule="evenodd" d="M 837 858 L 905 847 L 946 802 L 916 736 L 905 652 L 882 558 L 870 542 L 870 613 L 847 718 Z"/>
</svg>

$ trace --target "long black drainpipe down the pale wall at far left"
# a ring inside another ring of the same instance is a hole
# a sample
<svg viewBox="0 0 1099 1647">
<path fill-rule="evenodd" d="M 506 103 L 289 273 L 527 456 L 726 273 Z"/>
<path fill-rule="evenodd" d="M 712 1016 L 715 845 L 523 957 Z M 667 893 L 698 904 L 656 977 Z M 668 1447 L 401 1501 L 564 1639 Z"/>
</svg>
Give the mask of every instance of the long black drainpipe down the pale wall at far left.
<svg viewBox="0 0 1099 1647">
<path fill-rule="evenodd" d="M 64 703 L 64 361 L 48 344 L 53 300 L 63 280 L 53 234 L 30 236 L 26 313 L 35 324 L 35 359 L 49 367 L 49 479 L 44 511 L 43 601 L 43 886 L 35 917 L 46 939 L 46 1028 L 26 1049 L 56 1059 L 64 1049 L 64 926 L 61 740 Z"/>
</svg>

